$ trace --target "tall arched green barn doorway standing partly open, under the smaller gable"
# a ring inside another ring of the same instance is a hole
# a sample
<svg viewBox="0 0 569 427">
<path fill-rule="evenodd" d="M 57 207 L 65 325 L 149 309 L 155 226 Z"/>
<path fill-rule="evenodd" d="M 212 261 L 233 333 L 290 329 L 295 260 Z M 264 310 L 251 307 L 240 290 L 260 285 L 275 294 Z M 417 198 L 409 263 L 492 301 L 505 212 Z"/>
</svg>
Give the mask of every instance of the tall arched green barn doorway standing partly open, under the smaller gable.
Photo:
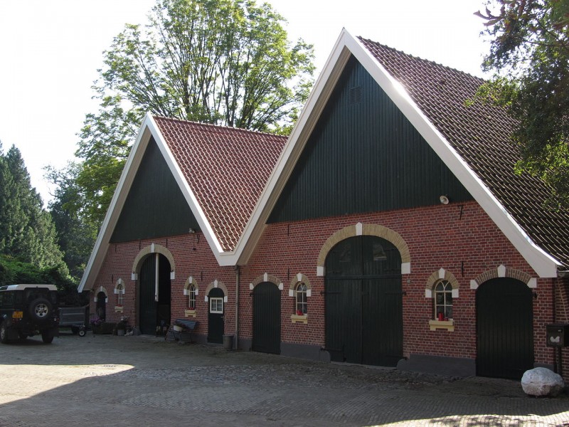
<svg viewBox="0 0 569 427">
<path fill-rule="evenodd" d="M 139 327 L 143 334 L 155 334 L 156 327 L 170 322 L 170 263 L 164 255 L 158 260 L 158 302 L 156 302 L 156 255 L 149 255 L 140 268 Z"/>
</svg>

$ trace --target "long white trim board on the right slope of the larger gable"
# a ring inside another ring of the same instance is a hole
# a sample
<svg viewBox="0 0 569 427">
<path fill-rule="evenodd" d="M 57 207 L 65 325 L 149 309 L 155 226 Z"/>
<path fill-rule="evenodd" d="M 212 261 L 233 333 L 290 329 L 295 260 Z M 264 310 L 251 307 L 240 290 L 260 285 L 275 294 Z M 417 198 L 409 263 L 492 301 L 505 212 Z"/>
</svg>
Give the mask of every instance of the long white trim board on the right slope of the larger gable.
<svg viewBox="0 0 569 427">
<path fill-rule="evenodd" d="M 508 214 L 504 206 L 496 199 L 494 194 L 486 187 L 479 177 L 474 174 L 464 159 L 452 148 L 445 137 L 435 128 L 420 108 L 411 100 L 407 93 L 402 93 L 401 85 L 388 73 L 383 65 L 368 51 L 366 46 L 356 38 L 351 38 L 347 45 L 353 56 L 360 61 L 368 73 L 376 80 L 391 100 L 403 112 L 405 117 L 415 126 L 420 135 L 435 150 L 447 167 L 457 176 L 457 179 L 474 196 L 474 199 L 486 211 L 486 214 L 496 223 L 506 238 L 526 259 L 531 268 L 541 278 L 557 277 L 560 263 L 551 255 L 538 247 L 519 223 Z"/>
</svg>

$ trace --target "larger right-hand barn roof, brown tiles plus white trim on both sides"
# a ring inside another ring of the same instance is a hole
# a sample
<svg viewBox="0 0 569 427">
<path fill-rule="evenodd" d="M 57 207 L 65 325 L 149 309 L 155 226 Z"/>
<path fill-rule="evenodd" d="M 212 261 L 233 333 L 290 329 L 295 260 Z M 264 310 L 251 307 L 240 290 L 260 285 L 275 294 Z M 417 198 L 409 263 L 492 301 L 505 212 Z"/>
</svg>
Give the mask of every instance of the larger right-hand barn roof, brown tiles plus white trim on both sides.
<svg viewBox="0 0 569 427">
<path fill-rule="evenodd" d="M 490 105 L 465 107 L 482 80 L 343 30 L 302 110 L 235 255 L 245 263 L 344 65 L 354 56 L 420 132 L 540 277 L 569 267 L 569 214 L 543 209 L 546 186 L 514 172 L 511 119 Z M 319 270 L 319 274 L 321 270 Z"/>
</svg>

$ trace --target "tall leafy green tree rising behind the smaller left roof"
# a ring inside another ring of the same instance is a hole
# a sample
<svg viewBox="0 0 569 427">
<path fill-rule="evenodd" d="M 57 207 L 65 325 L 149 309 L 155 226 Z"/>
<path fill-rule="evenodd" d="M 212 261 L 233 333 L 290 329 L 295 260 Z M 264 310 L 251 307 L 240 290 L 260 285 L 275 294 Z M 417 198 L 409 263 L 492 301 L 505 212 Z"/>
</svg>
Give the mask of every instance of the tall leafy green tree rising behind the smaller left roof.
<svg viewBox="0 0 569 427">
<path fill-rule="evenodd" d="M 314 53 L 252 0 L 157 0 L 104 53 L 76 155 L 87 215 L 102 222 L 144 112 L 286 134 L 312 87 Z"/>
</svg>

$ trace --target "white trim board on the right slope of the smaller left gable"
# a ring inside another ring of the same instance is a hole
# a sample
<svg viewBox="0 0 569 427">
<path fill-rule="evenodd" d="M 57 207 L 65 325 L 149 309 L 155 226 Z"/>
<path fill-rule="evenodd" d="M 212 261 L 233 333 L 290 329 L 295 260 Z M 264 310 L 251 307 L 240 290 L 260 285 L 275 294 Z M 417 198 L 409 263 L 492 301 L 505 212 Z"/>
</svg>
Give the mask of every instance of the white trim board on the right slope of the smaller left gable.
<svg viewBox="0 0 569 427">
<path fill-rule="evenodd" d="M 214 254 L 216 254 L 216 258 L 218 258 L 218 255 L 220 253 L 223 253 L 223 248 L 221 248 L 221 245 L 218 239 L 216 238 L 216 233 L 213 232 L 213 228 L 211 228 L 211 225 L 206 217 L 206 214 L 203 213 L 203 209 L 201 209 L 201 206 L 198 203 L 198 199 L 196 199 L 196 195 L 193 194 L 193 191 L 191 190 L 188 181 L 186 181 L 186 179 L 184 178 L 184 174 L 182 173 L 179 164 L 176 162 L 176 159 L 174 158 L 174 154 L 172 154 L 170 148 L 168 147 L 168 144 L 166 144 L 166 139 L 164 139 L 164 135 L 162 135 L 162 132 L 160 132 L 160 128 L 158 127 L 158 125 L 156 125 L 154 117 L 152 117 L 151 115 L 149 115 L 149 127 L 152 128 L 152 133 L 154 134 L 154 137 L 156 139 L 156 144 L 158 144 L 160 152 L 164 156 L 166 164 L 168 164 L 168 167 L 170 168 L 172 174 L 174 175 L 174 179 L 176 179 L 176 183 L 181 189 L 182 194 L 184 194 L 186 202 L 190 206 L 193 215 L 196 216 L 196 220 L 198 221 L 201 230 L 204 231 L 203 234 L 206 237 L 206 240 L 208 241 L 209 245 L 211 246 L 211 250 L 213 251 Z"/>
</svg>

